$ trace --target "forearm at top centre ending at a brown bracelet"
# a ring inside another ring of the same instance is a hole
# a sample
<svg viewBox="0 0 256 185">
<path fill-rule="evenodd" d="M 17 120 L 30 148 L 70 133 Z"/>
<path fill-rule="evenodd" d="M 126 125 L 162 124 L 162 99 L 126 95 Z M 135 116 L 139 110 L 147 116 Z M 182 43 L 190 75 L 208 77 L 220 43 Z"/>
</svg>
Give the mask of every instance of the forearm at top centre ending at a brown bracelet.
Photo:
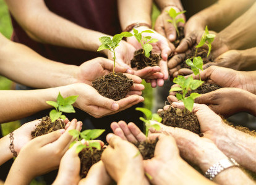
<svg viewBox="0 0 256 185">
<path fill-rule="evenodd" d="M 152 0 L 118 0 L 117 2 L 122 30 L 132 23 L 151 25 Z"/>
</svg>

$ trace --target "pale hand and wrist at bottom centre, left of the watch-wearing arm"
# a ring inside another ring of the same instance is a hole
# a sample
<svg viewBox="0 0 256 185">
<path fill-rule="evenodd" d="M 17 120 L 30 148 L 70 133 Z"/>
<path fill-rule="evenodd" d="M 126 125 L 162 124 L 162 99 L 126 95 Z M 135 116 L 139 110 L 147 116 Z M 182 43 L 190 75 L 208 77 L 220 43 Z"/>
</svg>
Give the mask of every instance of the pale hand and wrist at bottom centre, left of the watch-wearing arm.
<svg viewBox="0 0 256 185">
<path fill-rule="evenodd" d="M 127 125 L 124 121 L 113 122 L 111 128 L 114 134 L 126 141 L 142 142 L 146 140 L 146 136 L 134 123 Z M 164 134 L 150 134 L 150 137 L 147 139 L 156 138 L 159 141 L 156 144 L 155 156 L 143 161 L 145 172 L 152 177 L 150 183 L 187 184 L 189 181 L 190 184 L 214 184 L 182 160 L 173 137 Z"/>
</svg>

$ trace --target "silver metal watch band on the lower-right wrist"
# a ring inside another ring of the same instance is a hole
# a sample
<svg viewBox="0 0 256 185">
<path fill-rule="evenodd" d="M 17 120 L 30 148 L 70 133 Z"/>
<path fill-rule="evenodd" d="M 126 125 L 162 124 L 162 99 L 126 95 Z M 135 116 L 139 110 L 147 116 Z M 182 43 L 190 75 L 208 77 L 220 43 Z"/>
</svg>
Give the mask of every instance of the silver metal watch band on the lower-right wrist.
<svg viewBox="0 0 256 185">
<path fill-rule="evenodd" d="M 205 177 L 212 180 L 221 171 L 226 170 L 227 168 L 230 167 L 239 167 L 239 163 L 237 163 L 236 160 L 234 160 L 234 158 L 224 158 L 220 160 L 218 163 L 215 163 L 213 166 L 211 166 L 205 172 Z"/>
</svg>

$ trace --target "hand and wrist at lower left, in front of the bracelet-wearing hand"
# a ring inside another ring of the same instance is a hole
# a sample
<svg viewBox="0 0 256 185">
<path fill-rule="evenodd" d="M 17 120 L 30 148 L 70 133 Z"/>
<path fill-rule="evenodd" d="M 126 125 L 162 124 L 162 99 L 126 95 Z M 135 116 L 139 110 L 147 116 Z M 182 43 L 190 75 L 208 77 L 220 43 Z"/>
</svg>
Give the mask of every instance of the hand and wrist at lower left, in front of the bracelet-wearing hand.
<svg viewBox="0 0 256 185">
<path fill-rule="evenodd" d="M 72 120 L 67 131 L 64 129 L 54 131 L 28 142 L 15 159 L 7 176 L 6 184 L 29 184 L 36 176 L 58 168 L 62 156 L 69 149 L 70 143 L 74 141 L 69 130 L 80 131 L 81 126 L 82 122 Z M 38 159 L 44 162 L 38 163 Z"/>
</svg>

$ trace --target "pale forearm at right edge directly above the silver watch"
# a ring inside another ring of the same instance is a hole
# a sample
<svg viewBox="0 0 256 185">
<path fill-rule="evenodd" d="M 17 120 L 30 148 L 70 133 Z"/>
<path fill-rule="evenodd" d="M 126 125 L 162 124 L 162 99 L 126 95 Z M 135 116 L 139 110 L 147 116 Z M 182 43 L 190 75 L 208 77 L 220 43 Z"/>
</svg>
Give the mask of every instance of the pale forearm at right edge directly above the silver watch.
<svg viewBox="0 0 256 185">
<path fill-rule="evenodd" d="M 234 158 L 243 167 L 256 172 L 256 139 L 231 126 L 225 125 L 225 133 L 216 137 L 218 148 L 229 158 Z"/>
</svg>

